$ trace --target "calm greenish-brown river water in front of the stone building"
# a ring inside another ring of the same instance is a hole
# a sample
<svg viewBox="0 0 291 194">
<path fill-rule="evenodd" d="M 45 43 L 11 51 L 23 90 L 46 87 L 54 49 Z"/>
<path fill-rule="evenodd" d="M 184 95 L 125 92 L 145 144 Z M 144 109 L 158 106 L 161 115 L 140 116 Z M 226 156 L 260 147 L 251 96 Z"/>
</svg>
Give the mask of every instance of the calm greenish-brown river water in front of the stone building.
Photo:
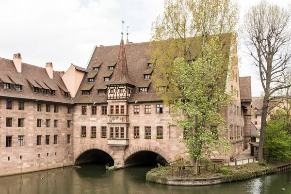
<svg viewBox="0 0 291 194">
<path fill-rule="evenodd" d="M 118 171 L 106 171 L 103 164 L 94 163 L 81 167 L 2 177 L 0 194 L 291 194 L 291 170 L 239 182 L 184 187 L 146 182 L 146 172 L 153 167 L 149 164 Z"/>
</svg>

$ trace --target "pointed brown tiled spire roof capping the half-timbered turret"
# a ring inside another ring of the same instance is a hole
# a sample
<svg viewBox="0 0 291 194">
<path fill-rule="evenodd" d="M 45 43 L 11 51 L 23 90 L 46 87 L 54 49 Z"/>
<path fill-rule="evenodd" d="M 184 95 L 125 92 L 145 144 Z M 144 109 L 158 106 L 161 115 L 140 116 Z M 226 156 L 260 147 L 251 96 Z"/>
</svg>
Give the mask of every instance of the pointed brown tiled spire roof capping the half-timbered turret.
<svg viewBox="0 0 291 194">
<path fill-rule="evenodd" d="M 105 85 L 116 85 L 116 84 L 129 84 L 134 86 L 134 82 L 129 78 L 129 72 L 127 67 L 127 60 L 123 41 L 123 32 L 121 32 L 120 47 L 117 56 L 117 64 L 113 74 L 113 77 Z"/>
</svg>

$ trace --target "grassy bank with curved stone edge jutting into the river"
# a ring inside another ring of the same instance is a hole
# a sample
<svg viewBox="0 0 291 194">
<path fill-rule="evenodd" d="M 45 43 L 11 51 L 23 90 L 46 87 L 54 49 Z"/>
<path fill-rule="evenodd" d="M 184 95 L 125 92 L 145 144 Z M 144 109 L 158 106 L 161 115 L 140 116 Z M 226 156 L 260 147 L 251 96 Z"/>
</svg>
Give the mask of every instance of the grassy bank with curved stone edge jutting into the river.
<svg viewBox="0 0 291 194">
<path fill-rule="evenodd" d="M 261 164 L 261 165 L 260 165 Z M 286 166 L 285 168 L 283 166 Z M 245 180 L 261 175 L 275 173 L 280 169 L 291 167 L 291 161 L 276 163 L 252 162 L 237 166 L 216 167 L 215 169 L 203 170 L 200 174 L 194 175 L 192 170 L 179 170 L 178 167 L 166 171 L 164 166 L 154 168 L 146 173 L 146 180 L 150 182 L 167 185 L 212 185 L 237 180 Z"/>
</svg>

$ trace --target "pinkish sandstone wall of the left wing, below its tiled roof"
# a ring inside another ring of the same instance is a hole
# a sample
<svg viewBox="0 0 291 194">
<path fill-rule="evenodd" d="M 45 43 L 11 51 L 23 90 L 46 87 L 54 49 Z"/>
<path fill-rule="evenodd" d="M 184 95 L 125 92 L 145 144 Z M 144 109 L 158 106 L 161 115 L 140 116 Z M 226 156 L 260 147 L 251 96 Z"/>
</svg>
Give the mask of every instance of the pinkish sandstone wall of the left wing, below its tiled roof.
<svg viewBox="0 0 291 194">
<path fill-rule="evenodd" d="M 12 101 L 12 110 L 6 109 L 6 100 Z M 18 101 L 24 102 L 24 110 L 18 110 Z M 41 112 L 37 112 L 37 103 L 42 104 Z M 46 113 L 46 104 L 50 104 L 49 113 Z M 58 105 L 58 113 L 54 113 L 54 105 Z M 73 134 L 73 128 L 67 128 L 67 120 L 73 120 L 72 113 L 73 108 L 68 114 L 64 104 L 0 98 L 0 176 L 72 165 L 73 135 L 67 144 L 67 134 Z M 6 127 L 6 118 L 12 118 L 12 127 Z M 18 118 L 24 119 L 23 127 L 18 127 Z M 42 119 L 41 127 L 36 127 L 37 119 Z M 49 128 L 46 128 L 46 119 L 50 119 Z M 54 119 L 58 120 L 57 128 L 54 128 Z M 36 146 L 37 135 L 41 135 L 40 146 Z M 49 135 L 49 145 L 46 145 L 46 135 Z M 58 135 L 57 144 L 54 144 L 54 135 Z M 6 147 L 6 136 L 12 136 L 11 147 Z M 23 146 L 18 146 L 18 136 L 23 136 Z"/>
</svg>

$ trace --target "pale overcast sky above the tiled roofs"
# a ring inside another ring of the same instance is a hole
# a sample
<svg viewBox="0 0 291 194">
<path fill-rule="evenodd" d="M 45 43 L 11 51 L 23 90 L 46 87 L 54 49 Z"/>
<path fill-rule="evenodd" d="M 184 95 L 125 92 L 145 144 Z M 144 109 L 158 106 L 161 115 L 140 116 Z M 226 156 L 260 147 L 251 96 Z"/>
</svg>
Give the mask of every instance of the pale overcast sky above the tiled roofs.
<svg viewBox="0 0 291 194">
<path fill-rule="evenodd" d="M 238 0 L 241 18 L 260 0 Z M 270 0 L 287 5 L 290 0 Z M 0 0 L 0 57 L 54 70 L 73 63 L 85 67 L 94 45 L 120 43 L 121 22 L 129 26 L 129 41 L 150 40 L 151 23 L 163 12 L 163 0 Z M 255 67 L 238 46 L 240 76 L 252 76 L 252 96 L 262 91 Z M 117 56 L 116 56 L 117 57 Z"/>
</svg>

